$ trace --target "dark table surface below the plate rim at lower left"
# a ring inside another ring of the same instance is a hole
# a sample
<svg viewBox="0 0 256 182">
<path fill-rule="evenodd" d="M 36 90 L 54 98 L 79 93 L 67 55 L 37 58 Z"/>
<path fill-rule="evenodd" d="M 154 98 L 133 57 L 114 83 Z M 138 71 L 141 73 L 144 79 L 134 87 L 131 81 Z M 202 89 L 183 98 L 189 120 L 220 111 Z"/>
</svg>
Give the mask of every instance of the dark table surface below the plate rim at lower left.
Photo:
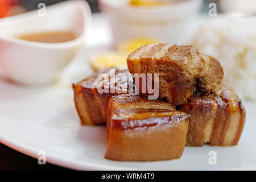
<svg viewBox="0 0 256 182">
<path fill-rule="evenodd" d="M 49 163 L 39 165 L 38 160 L 17 152 L 0 143 L 0 170 L 68 170 Z"/>
</svg>

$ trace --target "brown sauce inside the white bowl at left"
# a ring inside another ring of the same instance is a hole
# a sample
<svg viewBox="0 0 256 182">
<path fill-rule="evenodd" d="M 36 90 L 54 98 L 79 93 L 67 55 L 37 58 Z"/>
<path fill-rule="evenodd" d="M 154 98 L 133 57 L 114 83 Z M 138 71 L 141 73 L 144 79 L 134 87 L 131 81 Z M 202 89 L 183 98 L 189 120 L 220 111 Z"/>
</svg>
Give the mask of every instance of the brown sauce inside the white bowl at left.
<svg viewBox="0 0 256 182">
<path fill-rule="evenodd" d="M 63 43 L 77 38 L 72 31 L 39 32 L 16 37 L 17 39 L 43 43 Z"/>
</svg>

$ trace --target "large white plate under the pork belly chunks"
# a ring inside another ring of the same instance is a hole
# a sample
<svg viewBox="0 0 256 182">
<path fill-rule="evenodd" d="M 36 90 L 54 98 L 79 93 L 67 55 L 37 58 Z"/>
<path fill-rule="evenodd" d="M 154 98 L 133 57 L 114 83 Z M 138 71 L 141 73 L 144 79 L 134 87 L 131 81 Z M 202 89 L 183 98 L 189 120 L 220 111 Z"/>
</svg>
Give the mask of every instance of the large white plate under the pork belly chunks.
<svg viewBox="0 0 256 182">
<path fill-rule="evenodd" d="M 98 49 L 102 50 L 106 47 Z M 72 169 L 256 169 L 256 102 L 243 102 L 247 119 L 238 146 L 185 147 L 180 159 L 156 162 L 104 159 L 108 142 L 105 126 L 80 126 L 72 88 L 67 88 L 71 79 L 68 76 L 74 76 L 78 68 L 84 73 L 82 77 L 92 73 L 84 57 L 94 51 L 97 48 L 84 50 L 67 69 L 61 83 L 48 88 L 17 86 L 0 77 L 0 142 L 34 158 L 38 158 L 39 151 L 45 151 L 47 163 Z M 217 154 L 216 165 L 209 164 L 210 151 Z"/>
</svg>

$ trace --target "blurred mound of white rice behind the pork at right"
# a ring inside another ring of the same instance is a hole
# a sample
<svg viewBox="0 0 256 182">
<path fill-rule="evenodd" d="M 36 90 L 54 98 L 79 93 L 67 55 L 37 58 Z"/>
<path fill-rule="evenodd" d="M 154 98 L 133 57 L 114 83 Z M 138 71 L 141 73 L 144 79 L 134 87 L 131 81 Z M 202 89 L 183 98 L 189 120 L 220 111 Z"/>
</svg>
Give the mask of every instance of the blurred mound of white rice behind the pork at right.
<svg viewBox="0 0 256 182">
<path fill-rule="evenodd" d="M 216 57 L 224 68 L 224 84 L 240 98 L 256 101 L 256 16 L 209 18 L 188 44 Z"/>
</svg>

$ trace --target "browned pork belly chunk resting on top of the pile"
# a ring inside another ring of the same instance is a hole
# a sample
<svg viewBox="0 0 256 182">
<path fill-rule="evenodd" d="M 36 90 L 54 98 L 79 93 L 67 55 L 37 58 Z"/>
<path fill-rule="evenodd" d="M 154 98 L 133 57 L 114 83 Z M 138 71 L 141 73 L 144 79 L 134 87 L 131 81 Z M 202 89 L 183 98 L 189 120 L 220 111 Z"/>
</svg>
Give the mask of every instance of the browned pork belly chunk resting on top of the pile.
<svg viewBox="0 0 256 182">
<path fill-rule="evenodd" d="M 148 44 L 132 52 L 127 65 L 130 73 L 158 73 L 159 98 L 167 97 L 172 105 L 185 104 L 196 91 L 217 93 L 224 76 L 214 57 L 192 46 Z"/>
</svg>

